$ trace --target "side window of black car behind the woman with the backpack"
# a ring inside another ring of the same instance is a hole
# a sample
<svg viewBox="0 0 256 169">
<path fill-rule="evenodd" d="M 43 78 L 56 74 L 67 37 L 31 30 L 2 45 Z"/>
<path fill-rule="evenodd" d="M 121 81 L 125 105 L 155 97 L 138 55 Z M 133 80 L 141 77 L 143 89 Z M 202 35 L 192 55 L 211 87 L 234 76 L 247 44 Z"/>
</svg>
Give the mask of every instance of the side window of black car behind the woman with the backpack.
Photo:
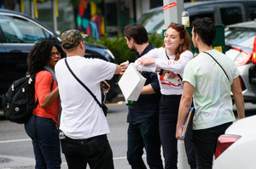
<svg viewBox="0 0 256 169">
<path fill-rule="evenodd" d="M 38 25 L 15 16 L 0 15 L 0 26 L 5 42 L 34 43 L 39 39 L 51 37 Z"/>
</svg>

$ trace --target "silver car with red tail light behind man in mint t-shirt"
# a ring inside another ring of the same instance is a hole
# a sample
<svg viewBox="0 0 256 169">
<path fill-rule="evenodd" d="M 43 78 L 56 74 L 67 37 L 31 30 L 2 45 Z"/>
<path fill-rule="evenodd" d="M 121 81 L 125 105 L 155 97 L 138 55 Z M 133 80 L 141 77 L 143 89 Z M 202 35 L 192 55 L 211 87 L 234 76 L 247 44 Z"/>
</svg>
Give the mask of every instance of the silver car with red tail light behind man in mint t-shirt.
<svg viewBox="0 0 256 169">
<path fill-rule="evenodd" d="M 256 104 L 256 21 L 228 25 L 225 45 L 226 55 L 235 62 L 240 71 L 245 102 Z"/>
</svg>

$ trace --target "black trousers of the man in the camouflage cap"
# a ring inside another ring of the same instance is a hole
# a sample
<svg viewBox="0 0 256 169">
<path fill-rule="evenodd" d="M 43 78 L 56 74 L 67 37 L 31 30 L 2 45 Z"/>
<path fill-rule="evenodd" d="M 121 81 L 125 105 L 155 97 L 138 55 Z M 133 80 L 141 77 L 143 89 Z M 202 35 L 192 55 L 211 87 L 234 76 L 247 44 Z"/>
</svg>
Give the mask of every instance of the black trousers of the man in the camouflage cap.
<svg viewBox="0 0 256 169">
<path fill-rule="evenodd" d="M 113 169 L 113 153 L 107 135 L 87 139 L 61 139 L 62 153 L 69 169 Z"/>
</svg>

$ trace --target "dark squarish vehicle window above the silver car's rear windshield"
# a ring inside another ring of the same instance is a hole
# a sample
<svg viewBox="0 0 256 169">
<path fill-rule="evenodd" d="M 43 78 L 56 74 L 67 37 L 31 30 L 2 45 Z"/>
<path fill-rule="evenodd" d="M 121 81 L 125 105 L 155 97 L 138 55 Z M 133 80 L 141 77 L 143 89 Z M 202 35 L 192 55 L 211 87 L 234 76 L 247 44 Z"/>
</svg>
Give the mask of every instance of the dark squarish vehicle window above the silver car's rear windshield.
<svg viewBox="0 0 256 169">
<path fill-rule="evenodd" d="M 240 7 L 220 8 L 220 14 L 224 25 L 236 24 L 242 21 Z"/>
</svg>

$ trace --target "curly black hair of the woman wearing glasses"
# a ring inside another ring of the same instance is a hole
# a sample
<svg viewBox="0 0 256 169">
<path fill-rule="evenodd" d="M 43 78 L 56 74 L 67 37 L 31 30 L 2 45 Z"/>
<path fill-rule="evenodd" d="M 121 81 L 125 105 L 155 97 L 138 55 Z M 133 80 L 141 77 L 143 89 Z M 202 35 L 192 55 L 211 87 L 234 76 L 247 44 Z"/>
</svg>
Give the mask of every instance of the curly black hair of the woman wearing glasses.
<svg viewBox="0 0 256 169">
<path fill-rule="evenodd" d="M 41 40 L 33 46 L 32 50 L 27 55 L 28 71 L 38 73 L 38 71 L 44 70 L 44 65 L 47 65 L 50 60 L 53 47 L 57 48 L 61 53 L 61 57 L 65 57 L 65 52 L 58 42 L 53 40 Z"/>
</svg>

